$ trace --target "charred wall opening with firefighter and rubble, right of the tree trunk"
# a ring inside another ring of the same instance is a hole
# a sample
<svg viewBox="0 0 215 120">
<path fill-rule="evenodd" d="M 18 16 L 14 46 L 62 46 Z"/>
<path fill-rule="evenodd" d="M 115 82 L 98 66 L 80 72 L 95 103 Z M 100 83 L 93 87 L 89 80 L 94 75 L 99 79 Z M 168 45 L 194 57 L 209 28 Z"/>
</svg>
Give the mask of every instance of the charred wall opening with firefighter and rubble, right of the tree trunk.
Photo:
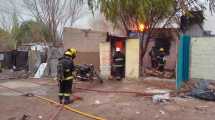
<svg viewBox="0 0 215 120">
<path fill-rule="evenodd" d="M 171 29 L 159 29 L 153 33 L 142 61 L 144 76 L 175 77 L 177 40 L 177 32 Z"/>
</svg>

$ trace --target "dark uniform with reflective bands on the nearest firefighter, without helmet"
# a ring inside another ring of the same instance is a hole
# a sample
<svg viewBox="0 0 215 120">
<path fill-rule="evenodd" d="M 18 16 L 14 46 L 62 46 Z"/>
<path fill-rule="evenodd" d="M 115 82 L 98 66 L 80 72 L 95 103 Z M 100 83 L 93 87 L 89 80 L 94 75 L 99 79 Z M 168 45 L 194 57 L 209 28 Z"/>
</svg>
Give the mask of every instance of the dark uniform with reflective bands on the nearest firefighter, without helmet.
<svg viewBox="0 0 215 120">
<path fill-rule="evenodd" d="M 70 103 L 70 94 L 72 92 L 72 84 L 73 84 L 73 71 L 74 71 L 74 64 L 71 60 L 71 57 L 64 55 L 64 57 L 59 59 L 59 64 L 62 65 L 63 72 L 62 72 L 62 79 L 59 80 L 59 100 L 62 103 L 64 99 L 64 104 Z M 59 71 L 58 71 L 59 72 Z"/>
</svg>

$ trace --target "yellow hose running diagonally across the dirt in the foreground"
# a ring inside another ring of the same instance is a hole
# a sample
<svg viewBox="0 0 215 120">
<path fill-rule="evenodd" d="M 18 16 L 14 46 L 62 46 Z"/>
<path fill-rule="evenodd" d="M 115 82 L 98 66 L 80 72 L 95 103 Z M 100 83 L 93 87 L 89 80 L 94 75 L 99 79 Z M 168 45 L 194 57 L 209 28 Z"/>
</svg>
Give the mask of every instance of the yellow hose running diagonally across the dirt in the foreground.
<svg viewBox="0 0 215 120">
<path fill-rule="evenodd" d="M 56 104 L 56 105 L 60 105 L 59 103 L 55 102 L 54 100 L 51 100 L 51 99 L 48 99 L 48 98 L 45 98 L 45 97 L 42 97 L 42 96 L 37 96 L 35 95 L 35 97 L 41 99 L 41 100 L 45 100 L 47 102 L 50 102 L 50 103 L 53 103 L 53 104 Z M 98 116 L 94 116 L 94 115 L 91 115 L 91 114 L 88 114 L 88 113 L 84 113 L 84 112 L 81 112 L 79 110 L 76 110 L 74 108 L 71 108 L 70 106 L 68 105 L 65 105 L 64 106 L 65 109 L 69 110 L 69 111 L 72 111 L 72 112 L 75 112 L 75 113 L 78 113 L 82 116 L 86 116 L 88 118 L 92 118 L 92 119 L 95 119 L 95 120 L 105 120 L 104 118 L 101 118 L 101 117 L 98 117 Z"/>
</svg>

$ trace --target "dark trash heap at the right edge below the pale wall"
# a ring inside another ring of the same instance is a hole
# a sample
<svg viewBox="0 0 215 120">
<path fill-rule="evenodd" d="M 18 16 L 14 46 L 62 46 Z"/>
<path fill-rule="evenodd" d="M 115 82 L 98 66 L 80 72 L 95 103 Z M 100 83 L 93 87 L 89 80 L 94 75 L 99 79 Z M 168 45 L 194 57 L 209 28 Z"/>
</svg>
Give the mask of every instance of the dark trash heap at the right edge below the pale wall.
<svg viewBox="0 0 215 120">
<path fill-rule="evenodd" d="M 215 84 L 207 80 L 200 80 L 192 89 L 189 96 L 202 100 L 215 101 Z"/>
</svg>

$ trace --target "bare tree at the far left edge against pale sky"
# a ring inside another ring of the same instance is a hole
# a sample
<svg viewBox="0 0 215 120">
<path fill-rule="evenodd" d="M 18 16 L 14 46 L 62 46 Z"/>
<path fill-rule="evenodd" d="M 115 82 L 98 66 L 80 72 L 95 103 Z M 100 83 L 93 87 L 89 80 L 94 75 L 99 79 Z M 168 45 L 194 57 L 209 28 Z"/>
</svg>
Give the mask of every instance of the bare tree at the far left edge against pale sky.
<svg viewBox="0 0 215 120">
<path fill-rule="evenodd" d="M 20 4 L 14 0 L 0 1 L 0 26 L 5 31 L 3 37 L 8 48 L 15 49 L 19 24 L 23 21 Z"/>
</svg>

